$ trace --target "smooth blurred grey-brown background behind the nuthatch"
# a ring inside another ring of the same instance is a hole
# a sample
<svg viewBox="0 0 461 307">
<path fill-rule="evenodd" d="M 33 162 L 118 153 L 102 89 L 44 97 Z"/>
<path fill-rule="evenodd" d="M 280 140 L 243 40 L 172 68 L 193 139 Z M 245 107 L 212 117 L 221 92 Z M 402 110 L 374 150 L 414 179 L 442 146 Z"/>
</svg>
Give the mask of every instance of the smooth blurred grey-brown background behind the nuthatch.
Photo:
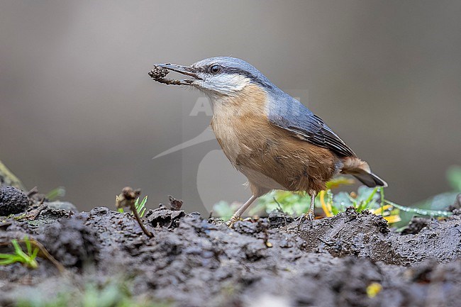
<svg viewBox="0 0 461 307">
<path fill-rule="evenodd" d="M 247 60 L 298 96 L 409 204 L 461 163 L 461 1 L 0 2 L 0 160 L 80 209 L 123 186 L 148 206 L 245 201 L 197 91 L 152 82 L 154 63 Z"/>
</svg>

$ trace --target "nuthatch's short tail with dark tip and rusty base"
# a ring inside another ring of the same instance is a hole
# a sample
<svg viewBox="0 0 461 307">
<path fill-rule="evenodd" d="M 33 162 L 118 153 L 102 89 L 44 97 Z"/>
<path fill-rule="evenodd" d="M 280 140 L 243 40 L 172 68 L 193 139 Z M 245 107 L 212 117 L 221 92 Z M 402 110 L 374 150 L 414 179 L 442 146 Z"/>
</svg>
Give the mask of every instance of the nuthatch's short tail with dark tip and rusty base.
<svg viewBox="0 0 461 307">
<path fill-rule="evenodd" d="M 375 186 L 387 186 L 387 183 L 373 174 L 367 162 L 357 157 L 345 157 L 343 159 L 343 174 L 351 174 L 365 186 L 374 188 Z"/>
</svg>

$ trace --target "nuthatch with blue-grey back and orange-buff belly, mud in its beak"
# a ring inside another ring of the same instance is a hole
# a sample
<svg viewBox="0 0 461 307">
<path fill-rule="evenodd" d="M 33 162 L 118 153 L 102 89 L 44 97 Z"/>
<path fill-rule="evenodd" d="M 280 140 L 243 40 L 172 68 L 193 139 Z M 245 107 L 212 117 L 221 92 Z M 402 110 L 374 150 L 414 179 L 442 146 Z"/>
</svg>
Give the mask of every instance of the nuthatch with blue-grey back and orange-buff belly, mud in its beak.
<svg viewBox="0 0 461 307">
<path fill-rule="evenodd" d="M 191 78 L 167 79 L 170 70 Z M 211 57 L 191 66 L 160 64 L 149 74 L 157 82 L 193 86 L 211 100 L 211 128 L 252 192 L 228 225 L 273 189 L 306 191 L 311 206 L 304 217 L 312 220 L 316 194 L 336 174 L 351 174 L 370 187 L 387 186 L 321 118 L 243 60 Z"/>
</svg>

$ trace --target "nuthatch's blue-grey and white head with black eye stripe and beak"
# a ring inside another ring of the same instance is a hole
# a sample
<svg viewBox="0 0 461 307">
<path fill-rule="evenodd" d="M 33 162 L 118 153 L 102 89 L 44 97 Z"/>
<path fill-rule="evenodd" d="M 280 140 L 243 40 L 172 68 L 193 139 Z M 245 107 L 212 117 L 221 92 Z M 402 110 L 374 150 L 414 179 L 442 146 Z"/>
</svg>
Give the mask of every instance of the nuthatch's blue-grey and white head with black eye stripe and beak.
<svg viewBox="0 0 461 307">
<path fill-rule="evenodd" d="M 194 86 L 209 96 L 238 95 L 238 92 L 249 84 L 257 84 L 264 89 L 273 87 L 259 70 L 235 57 L 209 57 L 191 66 L 170 63 L 156 66 L 191 77 L 174 80 L 172 84 Z"/>
</svg>

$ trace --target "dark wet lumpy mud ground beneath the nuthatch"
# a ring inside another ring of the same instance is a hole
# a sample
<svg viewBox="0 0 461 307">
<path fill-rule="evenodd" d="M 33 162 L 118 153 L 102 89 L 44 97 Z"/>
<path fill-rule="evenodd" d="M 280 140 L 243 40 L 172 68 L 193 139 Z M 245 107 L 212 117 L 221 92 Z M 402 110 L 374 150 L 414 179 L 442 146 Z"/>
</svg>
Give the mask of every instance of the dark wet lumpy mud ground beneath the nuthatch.
<svg viewBox="0 0 461 307">
<path fill-rule="evenodd" d="M 129 213 L 72 213 L 45 203 L 23 221 L 0 218 L 0 242 L 28 235 L 65 272 L 44 258 L 38 269 L 0 267 L 0 306 L 109 279 L 126 279 L 136 296 L 167 306 L 460 306 L 455 213 L 418 219 L 401 235 L 383 218 L 352 209 L 300 229 L 282 213 L 229 229 L 160 206 L 145 215 L 155 235 L 148 238 Z"/>
</svg>

